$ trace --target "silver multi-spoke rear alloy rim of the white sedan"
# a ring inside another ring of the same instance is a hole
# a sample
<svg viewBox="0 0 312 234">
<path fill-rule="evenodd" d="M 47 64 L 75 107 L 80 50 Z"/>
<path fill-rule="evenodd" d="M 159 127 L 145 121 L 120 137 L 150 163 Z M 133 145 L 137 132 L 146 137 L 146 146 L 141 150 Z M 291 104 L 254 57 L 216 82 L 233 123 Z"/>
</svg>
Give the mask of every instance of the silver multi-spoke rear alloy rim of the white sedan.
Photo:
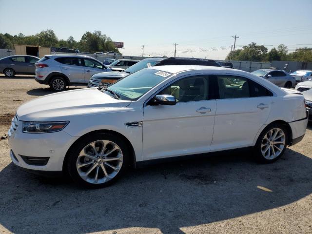
<svg viewBox="0 0 312 234">
<path fill-rule="evenodd" d="M 270 129 L 261 142 L 261 153 L 266 159 L 278 157 L 285 148 L 285 133 L 280 128 Z"/>
</svg>

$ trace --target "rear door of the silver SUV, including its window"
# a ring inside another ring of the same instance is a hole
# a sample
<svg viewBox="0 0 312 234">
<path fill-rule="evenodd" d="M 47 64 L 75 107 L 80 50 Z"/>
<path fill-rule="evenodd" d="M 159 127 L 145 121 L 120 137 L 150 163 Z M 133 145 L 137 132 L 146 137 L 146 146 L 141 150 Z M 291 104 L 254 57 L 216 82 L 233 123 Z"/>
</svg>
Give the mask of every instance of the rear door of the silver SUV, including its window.
<svg viewBox="0 0 312 234">
<path fill-rule="evenodd" d="M 59 57 L 55 59 L 60 63 L 60 69 L 69 78 L 71 83 L 86 83 L 84 76 L 84 66 L 81 58 Z"/>
</svg>

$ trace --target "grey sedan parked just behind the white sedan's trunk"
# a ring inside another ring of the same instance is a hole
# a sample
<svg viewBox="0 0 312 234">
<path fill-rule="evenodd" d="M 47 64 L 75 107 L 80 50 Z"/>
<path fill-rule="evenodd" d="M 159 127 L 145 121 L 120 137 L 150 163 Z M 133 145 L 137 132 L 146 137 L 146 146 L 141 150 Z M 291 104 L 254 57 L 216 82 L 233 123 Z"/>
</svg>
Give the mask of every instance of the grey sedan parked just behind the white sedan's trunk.
<svg viewBox="0 0 312 234">
<path fill-rule="evenodd" d="M 296 80 L 290 74 L 281 70 L 259 69 L 252 74 L 265 78 L 279 87 L 292 88 L 296 85 Z"/>
</svg>

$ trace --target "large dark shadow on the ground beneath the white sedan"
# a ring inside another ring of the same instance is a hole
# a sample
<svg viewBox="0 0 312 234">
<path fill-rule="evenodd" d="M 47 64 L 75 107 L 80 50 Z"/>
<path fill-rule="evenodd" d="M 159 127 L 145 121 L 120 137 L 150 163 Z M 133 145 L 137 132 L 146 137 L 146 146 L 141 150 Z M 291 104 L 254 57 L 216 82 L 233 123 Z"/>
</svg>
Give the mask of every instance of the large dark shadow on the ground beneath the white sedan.
<svg viewBox="0 0 312 234">
<path fill-rule="evenodd" d="M 0 172 L 0 224 L 18 234 L 129 227 L 183 233 L 182 227 L 249 215 L 311 195 L 310 157 L 287 149 L 278 161 L 264 165 L 251 156 L 243 150 L 130 169 L 117 183 L 98 190 L 29 174 L 11 163 Z"/>
</svg>

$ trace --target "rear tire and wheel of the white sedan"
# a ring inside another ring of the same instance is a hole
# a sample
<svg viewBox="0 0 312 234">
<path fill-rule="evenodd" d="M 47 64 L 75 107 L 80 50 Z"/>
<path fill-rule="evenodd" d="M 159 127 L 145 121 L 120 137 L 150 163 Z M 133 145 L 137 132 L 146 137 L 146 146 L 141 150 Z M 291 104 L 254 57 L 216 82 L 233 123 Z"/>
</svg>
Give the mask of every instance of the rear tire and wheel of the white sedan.
<svg viewBox="0 0 312 234">
<path fill-rule="evenodd" d="M 277 136 L 275 136 L 275 134 Z M 274 136 L 275 138 L 273 139 Z M 258 137 L 254 146 L 254 153 L 257 161 L 260 163 L 276 161 L 284 154 L 288 139 L 288 131 L 284 125 L 273 123 L 267 126 Z"/>
</svg>

